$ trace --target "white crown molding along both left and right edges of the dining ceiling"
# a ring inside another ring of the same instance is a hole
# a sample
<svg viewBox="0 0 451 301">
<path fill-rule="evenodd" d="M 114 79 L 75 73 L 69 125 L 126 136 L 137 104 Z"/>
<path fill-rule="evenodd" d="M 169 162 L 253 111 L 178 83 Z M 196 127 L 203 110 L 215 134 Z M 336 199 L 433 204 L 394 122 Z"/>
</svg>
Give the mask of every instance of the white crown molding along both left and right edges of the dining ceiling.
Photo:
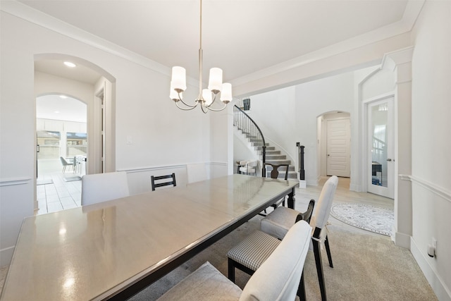
<svg viewBox="0 0 451 301">
<path fill-rule="evenodd" d="M 418 18 L 419 13 L 421 12 L 421 8 L 423 7 L 424 2 L 425 0 L 408 1 L 403 18 L 397 23 L 378 28 L 377 30 L 373 30 L 371 32 L 366 32 L 365 34 L 353 37 L 352 39 L 347 39 L 343 42 L 339 42 L 329 47 L 319 49 L 318 51 L 313 51 L 309 54 L 299 56 L 296 59 L 285 61 L 269 68 L 264 68 L 249 75 L 242 76 L 241 78 L 235 78 L 233 80 L 230 80 L 230 82 L 233 85 L 243 85 L 247 82 L 266 78 L 270 75 L 275 75 L 286 70 L 298 68 L 299 66 L 303 66 L 307 63 L 319 61 L 330 56 L 342 54 L 352 49 L 364 47 L 368 44 L 378 42 L 395 35 L 400 35 L 404 32 L 409 32 L 410 30 L 412 30 L 412 27 L 414 26 L 416 18 Z M 30 6 L 26 6 L 25 4 L 21 4 L 20 2 L 2 1 L 0 9 L 1 11 L 10 13 L 13 16 L 22 18 L 23 20 L 27 20 L 31 23 L 35 23 L 36 25 L 47 28 L 54 32 L 58 32 L 61 35 L 66 35 L 67 37 L 73 38 L 102 51 L 106 51 L 122 59 L 137 63 L 140 66 L 149 68 L 168 77 L 171 75 L 171 68 L 169 68 L 168 66 L 163 66 L 161 63 L 147 59 L 140 54 L 136 54 L 135 52 L 118 46 L 117 44 L 113 44 L 105 39 L 101 39 L 96 35 L 92 35 L 85 30 L 81 30 L 78 27 L 65 23 L 57 18 L 47 15 L 46 13 L 42 13 L 41 11 L 37 11 L 35 8 L 30 8 Z M 188 77 L 187 82 L 193 86 L 198 85 L 198 80 L 194 78 Z"/>
</svg>

